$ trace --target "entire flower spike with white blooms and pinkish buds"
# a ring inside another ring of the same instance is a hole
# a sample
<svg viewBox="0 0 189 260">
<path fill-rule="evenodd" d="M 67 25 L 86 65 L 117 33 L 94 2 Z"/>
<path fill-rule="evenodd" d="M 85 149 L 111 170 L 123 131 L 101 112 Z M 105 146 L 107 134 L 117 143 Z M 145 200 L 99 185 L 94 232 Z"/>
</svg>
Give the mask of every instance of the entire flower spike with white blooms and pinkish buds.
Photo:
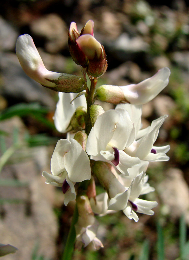
<svg viewBox="0 0 189 260">
<path fill-rule="evenodd" d="M 107 60 L 93 27 L 94 22 L 89 20 L 79 34 L 76 23 L 71 23 L 68 32 L 70 54 L 82 67 L 82 77 L 46 70 L 29 35 L 21 35 L 16 43 L 16 54 L 26 74 L 59 92 L 54 122 L 59 132 L 67 133 L 67 139 L 58 141 L 51 173 L 44 171 L 42 175 L 47 184 L 62 187 L 65 205 L 76 199 L 77 249 L 89 243 L 95 249 L 103 247 L 96 237 L 98 222 L 94 214 L 122 210 L 136 222 L 137 213 L 154 214 L 152 209 L 157 202 L 139 197 L 154 191 L 146 175 L 149 162 L 169 160 L 166 153 L 170 149 L 169 145 L 154 146 L 168 115 L 153 120 L 147 128 L 141 126 L 142 105 L 167 86 L 170 70 L 162 68 L 138 84 L 97 87 L 98 77 L 107 69 Z M 98 100 L 116 107 L 105 112 Z M 93 176 L 104 193 L 96 195 Z"/>
</svg>

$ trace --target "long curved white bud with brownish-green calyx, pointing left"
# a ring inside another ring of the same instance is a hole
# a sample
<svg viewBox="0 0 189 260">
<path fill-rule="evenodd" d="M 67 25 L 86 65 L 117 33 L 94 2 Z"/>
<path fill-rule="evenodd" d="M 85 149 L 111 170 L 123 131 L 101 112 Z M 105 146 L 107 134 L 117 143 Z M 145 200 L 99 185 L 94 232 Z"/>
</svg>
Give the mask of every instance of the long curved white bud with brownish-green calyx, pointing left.
<svg viewBox="0 0 189 260">
<path fill-rule="evenodd" d="M 59 92 L 79 93 L 87 88 L 85 80 L 75 75 L 48 71 L 30 35 L 20 35 L 16 55 L 26 74 L 42 86 Z"/>
</svg>

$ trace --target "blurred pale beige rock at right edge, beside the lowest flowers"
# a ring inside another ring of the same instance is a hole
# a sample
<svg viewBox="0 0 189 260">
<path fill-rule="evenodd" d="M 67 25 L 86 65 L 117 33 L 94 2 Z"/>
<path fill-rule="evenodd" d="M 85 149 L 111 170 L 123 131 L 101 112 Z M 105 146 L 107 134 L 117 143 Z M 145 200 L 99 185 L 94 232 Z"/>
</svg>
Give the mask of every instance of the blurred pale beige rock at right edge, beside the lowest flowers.
<svg viewBox="0 0 189 260">
<path fill-rule="evenodd" d="M 172 219 L 185 215 L 189 225 L 189 189 L 180 169 L 170 168 L 166 178 L 158 185 L 159 196 Z"/>
</svg>

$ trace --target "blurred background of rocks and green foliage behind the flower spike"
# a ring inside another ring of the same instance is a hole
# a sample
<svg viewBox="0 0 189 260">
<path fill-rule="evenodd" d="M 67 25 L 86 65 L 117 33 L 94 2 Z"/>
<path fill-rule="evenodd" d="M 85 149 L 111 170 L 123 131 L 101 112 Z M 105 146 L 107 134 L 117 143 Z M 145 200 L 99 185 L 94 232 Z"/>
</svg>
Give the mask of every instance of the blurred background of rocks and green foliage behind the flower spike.
<svg viewBox="0 0 189 260">
<path fill-rule="evenodd" d="M 143 106 L 143 127 L 164 114 L 156 146 L 170 144 L 169 162 L 152 163 L 147 174 L 158 201 L 155 215 L 139 222 L 122 212 L 98 217 L 104 248 L 75 251 L 74 260 L 189 259 L 189 4 L 184 0 L 7 0 L 0 4 L 0 243 L 19 251 L 6 260 L 60 260 L 74 203 L 45 184 L 58 139 L 53 124 L 58 96 L 30 79 L 15 54 L 16 39 L 29 34 L 48 70 L 81 75 L 69 54 L 67 30 L 95 22 L 108 69 L 102 83 L 138 83 L 169 67 L 169 85 Z M 110 105 L 104 104 L 105 109 Z M 102 190 L 97 187 L 97 192 Z M 179 225 L 180 222 L 180 225 Z M 189 237 L 187 237 L 188 239 Z M 185 246 L 185 247 L 184 247 Z M 185 250 L 185 251 L 183 251 Z M 182 252 L 182 257 L 181 257 Z M 146 258 L 145 258 L 146 257 Z"/>
</svg>

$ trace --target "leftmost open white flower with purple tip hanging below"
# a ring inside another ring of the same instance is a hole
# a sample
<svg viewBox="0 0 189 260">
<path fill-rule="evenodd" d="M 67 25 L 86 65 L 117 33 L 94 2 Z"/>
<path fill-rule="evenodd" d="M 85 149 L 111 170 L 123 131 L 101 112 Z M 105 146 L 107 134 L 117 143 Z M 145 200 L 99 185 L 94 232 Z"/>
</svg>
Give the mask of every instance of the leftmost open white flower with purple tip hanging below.
<svg viewBox="0 0 189 260">
<path fill-rule="evenodd" d="M 76 182 L 90 180 L 91 168 L 87 154 L 74 139 L 61 139 L 57 142 L 51 158 L 51 173 L 42 175 L 47 184 L 62 186 L 65 194 L 64 204 L 76 198 Z"/>
</svg>

